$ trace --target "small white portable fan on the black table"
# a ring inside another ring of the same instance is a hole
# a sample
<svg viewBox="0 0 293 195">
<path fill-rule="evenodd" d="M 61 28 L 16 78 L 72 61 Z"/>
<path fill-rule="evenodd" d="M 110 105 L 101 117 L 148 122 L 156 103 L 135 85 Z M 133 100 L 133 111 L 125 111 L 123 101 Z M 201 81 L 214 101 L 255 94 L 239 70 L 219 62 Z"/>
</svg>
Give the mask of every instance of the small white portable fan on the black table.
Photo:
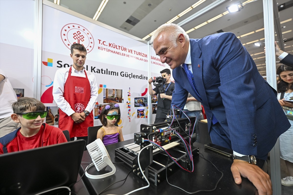
<svg viewBox="0 0 293 195">
<path fill-rule="evenodd" d="M 113 165 L 108 151 L 100 138 L 88 144 L 86 148 L 88 149 L 88 153 L 93 161 L 93 163 L 88 165 L 86 168 L 86 177 L 91 179 L 101 179 L 113 175 L 116 172 L 116 167 Z M 91 175 L 87 172 L 87 170 L 93 165 L 95 165 L 98 171 L 109 165 L 112 168 L 112 171 L 102 175 Z"/>
</svg>

